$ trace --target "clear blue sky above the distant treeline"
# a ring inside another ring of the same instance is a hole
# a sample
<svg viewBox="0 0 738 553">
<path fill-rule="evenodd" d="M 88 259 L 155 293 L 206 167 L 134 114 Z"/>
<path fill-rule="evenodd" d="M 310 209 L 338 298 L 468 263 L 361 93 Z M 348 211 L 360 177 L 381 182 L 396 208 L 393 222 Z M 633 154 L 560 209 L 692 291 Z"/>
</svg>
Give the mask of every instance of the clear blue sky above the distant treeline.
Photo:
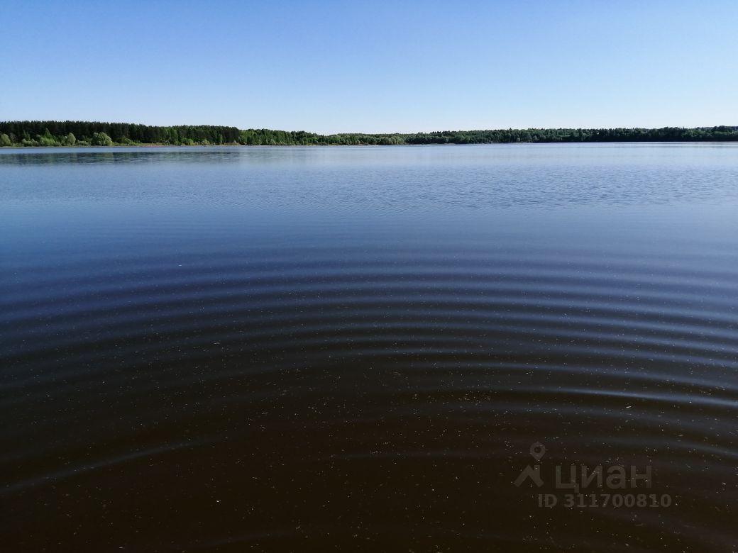
<svg viewBox="0 0 738 553">
<path fill-rule="evenodd" d="M 738 1 L 0 0 L 0 119 L 738 125 Z"/>
</svg>

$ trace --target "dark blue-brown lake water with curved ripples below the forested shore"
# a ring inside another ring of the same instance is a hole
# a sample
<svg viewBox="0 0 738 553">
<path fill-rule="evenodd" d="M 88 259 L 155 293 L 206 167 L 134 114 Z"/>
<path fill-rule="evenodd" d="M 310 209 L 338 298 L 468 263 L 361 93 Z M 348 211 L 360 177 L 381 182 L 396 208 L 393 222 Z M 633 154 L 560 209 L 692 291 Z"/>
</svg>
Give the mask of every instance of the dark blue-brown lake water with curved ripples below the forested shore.
<svg viewBox="0 0 738 553">
<path fill-rule="evenodd" d="M 0 198 L 8 551 L 738 543 L 738 145 L 4 149 Z"/>
</svg>

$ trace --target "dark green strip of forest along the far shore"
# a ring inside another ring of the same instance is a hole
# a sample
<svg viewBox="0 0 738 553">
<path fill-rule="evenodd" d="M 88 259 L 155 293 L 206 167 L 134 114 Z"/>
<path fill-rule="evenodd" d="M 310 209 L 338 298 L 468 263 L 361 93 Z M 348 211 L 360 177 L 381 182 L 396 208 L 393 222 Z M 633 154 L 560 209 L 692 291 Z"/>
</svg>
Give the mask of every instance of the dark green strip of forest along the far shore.
<svg viewBox="0 0 738 553">
<path fill-rule="evenodd" d="M 86 121 L 0 122 L 0 146 L 114 145 L 413 145 L 511 142 L 677 142 L 738 141 L 738 127 L 501 129 L 414 134 L 315 134 L 213 125 L 156 127 Z"/>
</svg>

